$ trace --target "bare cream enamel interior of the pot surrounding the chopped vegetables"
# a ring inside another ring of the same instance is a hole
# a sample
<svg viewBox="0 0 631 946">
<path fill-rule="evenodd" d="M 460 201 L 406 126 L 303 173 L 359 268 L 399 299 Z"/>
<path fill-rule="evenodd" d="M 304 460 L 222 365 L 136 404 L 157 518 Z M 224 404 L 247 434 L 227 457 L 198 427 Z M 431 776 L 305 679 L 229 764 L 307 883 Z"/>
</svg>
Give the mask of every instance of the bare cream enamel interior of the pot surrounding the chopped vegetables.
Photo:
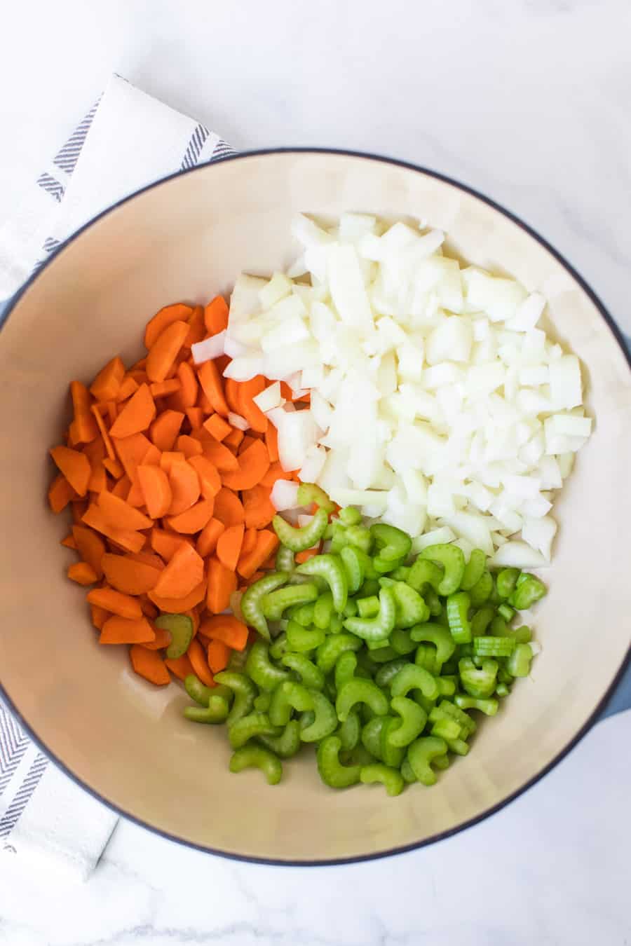
<svg viewBox="0 0 631 946">
<path fill-rule="evenodd" d="M 99 647 L 84 591 L 66 581 L 67 525 L 45 502 L 47 447 L 68 421 L 71 378 L 141 355 L 167 302 L 229 293 L 242 270 L 289 264 L 298 211 L 411 215 L 452 252 L 512 273 L 550 303 L 552 330 L 583 361 L 595 429 L 556 505 L 543 644 L 531 677 L 482 724 L 475 750 L 431 789 L 336 793 L 310 753 L 268 787 L 228 772 L 225 733 L 184 721 L 176 685 L 131 673 Z M 72 237 L 19 294 L 0 336 L 0 680 L 5 698 L 72 778 L 123 815 L 204 850 L 274 863 L 376 857 L 457 832 L 516 797 L 586 732 L 622 673 L 631 613 L 629 367 L 593 292 L 541 238 L 467 188 L 362 155 L 285 150 L 202 166 L 122 201 Z M 562 804 L 562 799 L 559 799 Z"/>
</svg>

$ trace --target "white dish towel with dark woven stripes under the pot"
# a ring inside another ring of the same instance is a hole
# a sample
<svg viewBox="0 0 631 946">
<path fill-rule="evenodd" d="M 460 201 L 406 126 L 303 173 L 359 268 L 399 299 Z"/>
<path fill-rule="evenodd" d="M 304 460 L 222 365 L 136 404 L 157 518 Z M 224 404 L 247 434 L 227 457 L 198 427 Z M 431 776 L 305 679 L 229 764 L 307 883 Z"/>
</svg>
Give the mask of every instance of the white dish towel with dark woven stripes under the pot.
<svg viewBox="0 0 631 946">
<path fill-rule="evenodd" d="M 19 219 L 0 229 L 0 299 L 105 207 L 230 153 L 200 122 L 114 76 L 26 196 Z M 0 303 L 0 322 L 1 310 Z M 0 850 L 20 867 L 39 862 L 85 878 L 115 824 L 114 813 L 49 762 L 0 702 Z M 0 869 L 9 865 L 0 858 Z"/>
</svg>

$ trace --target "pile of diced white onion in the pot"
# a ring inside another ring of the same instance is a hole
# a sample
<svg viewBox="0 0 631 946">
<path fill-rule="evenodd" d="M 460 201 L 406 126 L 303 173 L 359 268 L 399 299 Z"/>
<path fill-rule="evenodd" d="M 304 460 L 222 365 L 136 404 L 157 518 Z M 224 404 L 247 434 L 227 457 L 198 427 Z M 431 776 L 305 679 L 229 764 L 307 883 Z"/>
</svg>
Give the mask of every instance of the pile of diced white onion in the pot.
<svg viewBox="0 0 631 946">
<path fill-rule="evenodd" d="M 227 377 L 310 393 L 300 412 L 278 384 L 261 394 L 284 468 L 415 551 L 455 539 L 497 566 L 546 565 L 553 491 L 591 420 L 578 359 L 539 325 L 543 296 L 461 268 L 436 230 L 343 214 L 293 233 L 288 275 L 237 280 L 224 342 Z"/>
</svg>

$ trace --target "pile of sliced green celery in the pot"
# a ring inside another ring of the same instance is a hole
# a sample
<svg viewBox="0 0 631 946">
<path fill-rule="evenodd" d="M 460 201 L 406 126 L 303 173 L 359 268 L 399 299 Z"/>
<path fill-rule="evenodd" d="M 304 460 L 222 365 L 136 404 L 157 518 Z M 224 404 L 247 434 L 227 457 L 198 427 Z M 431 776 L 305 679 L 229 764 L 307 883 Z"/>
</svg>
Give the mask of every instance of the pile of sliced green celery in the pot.
<svg viewBox="0 0 631 946">
<path fill-rule="evenodd" d="M 226 723 L 233 772 L 254 766 L 270 784 L 282 760 L 317 746 L 332 788 L 380 782 L 399 795 L 407 782 L 436 782 L 449 755 L 464 756 L 476 722 L 493 716 L 538 647 L 530 628 L 509 627 L 546 592 L 535 575 L 492 575 L 482 550 L 467 563 L 455 545 L 410 557 L 412 538 L 385 523 L 339 516 L 323 491 L 303 483 L 301 505 L 317 512 L 302 528 L 277 516 L 276 570 L 244 593 L 241 613 L 258 632 L 219 684 L 187 676 L 197 723 Z M 300 565 L 295 553 L 326 540 Z M 433 768 L 432 768 L 433 766 Z"/>
</svg>

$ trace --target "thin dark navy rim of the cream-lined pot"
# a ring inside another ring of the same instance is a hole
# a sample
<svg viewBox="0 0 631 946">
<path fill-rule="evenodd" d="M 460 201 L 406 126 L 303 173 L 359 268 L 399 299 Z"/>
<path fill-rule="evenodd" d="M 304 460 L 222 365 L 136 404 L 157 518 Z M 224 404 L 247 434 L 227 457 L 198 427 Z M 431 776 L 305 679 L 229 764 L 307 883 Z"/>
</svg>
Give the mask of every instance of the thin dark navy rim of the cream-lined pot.
<svg viewBox="0 0 631 946">
<path fill-rule="evenodd" d="M 619 328 L 618 324 L 616 324 L 616 322 L 614 321 L 609 311 L 606 309 L 603 302 L 596 295 L 594 290 L 591 289 L 591 287 L 589 286 L 587 281 L 584 279 L 584 277 L 579 272 L 577 272 L 577 270 L 574 269 L 574 267 L 565 258 L 565 256 L 559 253 L 559 251 L 556 250 L 552 246 L 552 244 L 548 242 L 548 240 L 546 240 L 543 236 L 541 236 L 535 230 L 534 227 L 532 227 L 530 224 L 526 223 L 524 220 L 517 217 L 517 215 L 512 213 L 512 211 L 507 210 L 498 201 L 494 201 L 492 198 L 487 197 L 485 194 L 477 190 L 475 187 L 471 187 L 468 184 L 463 184 L 462 182 L 448 176 L 447 174 L 442 174 L 440 171 L 432 170 L 431 168 L 425 167 L 422 165 L 416 165 L 410 161 L 403 161 L 398 158 L 375 154 L 370 151 L 357 151 L 357 150 L 352 150 L 352 149 L 338 149 L 338 148 L 281 147 L 281 148 L 266 148 L 266 149 L 253 149 L 253 150 L 248 150 L 248 151 L 239 151 L 235 154 L 228 154 L 228 155 L 216 158 L 214 160 L 205 162 L 202 165 L 196 165 L 194 167 L 189 167 L 184 170 L 175 171 L 172 174 L 168 174 L 166 177 L 159 178 L 157 181 L 153 181 L 151 184 L 146 184 L 143 187 L 139 187 L 138 189 L 132 191 L 131 194 L 126 195 L 125 197 L 121 198 L 119 201 L 115 201 L 111 206 L 106 207 L 104 210 L 100 211 L 100 213 L 96 214 L 95 217 L 87 220 L 85 223 L 83 223 L 79 227 L 78 230 L 76 230 L 70 236 L 66 237 L 66 239 L 63 240 L 59 244 L 59 246 L 55 247 L 55 249 L 42 262 L 42 264 L 37 266 L 34 269 L 34 271 L 26 279 L 26 282 L 20 287 L 20 289 L 17 289 L 17 291 L 13 294 L 13 296 L 10 297 L 9 302 L 7 306 L 5 307 L 5 310 L 2 313 L 0 313 L 0 332 L 2 331 L 4 324 L 6 324 L 7 321 L 9 320 L 9 315 L 17 306 L 22 296 L 26 293 L 26 290 L 29 289 L 30 286 L 39 278 L 40 274 L 44 272 L 44 270 L 48 266 L 51 265 L 51 263 L 55 260 L 55 258 L 59 254 L 61 254 L 63 250 L 66 249 L 66 247 L 68 247 L 71 243 L 73 243 L 76 239 L 78 239 L 79 236 L 81 236 L 81 234 L 85 230 L 93 226 L 101 218 L 106 217 L 109 214 L 111 214 L 118 207 L 122 206 L 123 204 L 129 201 L 134 200 L 136 197 L 138 197 L 141 194 L 144 194 L 146 191 L 153 190 L 156 187 L 161 187 L 164 184 L 168 184 L 169 182 L 182 177 L 184 174 L 195 174 L 196 172 L 207 170 L 209 166 L 217 166 L 221 164 L 226 164 L 228 162 L 242 161 L 242 160 L 253 158 L 253 157 L 254 158 L 267 157 L 267 156 L 277 155 L 277 154 L 334 155 L 334 156 L 340 156 L 340 157 L 359 158 L 359 159 L 368 160 L 371 162 L 377 162 L 380 164 L 403 167 L 406 170 L 415 171 L 416 173 L 421 173 L 430 178 L 434 178 L 437 181 L 442 181 L 445 184 L 450 184 L 451 186 L 456 187 L 457 189 L 464 191 L 464 193 L 470 194 L 472 197 L 475 197 L 479 201 L 482 201 L 483 203 L 487 204 L 487 206 L 491 207 L 493 210 L 496 210 L 503 217 L 515 223 L 521 230 L 523 230 L 526 234 L 528 234 L 528 236 L 532 236 L 533 239 L 535 239 L 536 242 L 540 246 L 542 246 L 545 250 L 547 250 L 548 253 L 552 254 L 552 256 L 566 270 L 566 272 L 570 273 L 570 276 L 578 283 L 581 289 L 583 289 L 583 291 L 587 294 L 587 297 L 589 298 L 589 300 L 598 309 L 601 316 L 605 320 L 605 324 L 608 326 L 609 330 L 611 331 L 614 341 L 617 342 L 618 345 L 620 346 L 622 350 L 622 356 L 627 363 L 629 371 L 631 372 L 631 351 L 627 349 L 623 341 L 622 331 Z M 280 858 L 274 858 L 274 857 L 258 857 L 251 854 L 238 854 L 238 853 L 235 853 L 234 851 L 220 850 L 218 848 L 212 848 L 207 845 L 197 844 L 194 841 L 189 841 L 185 839 L 184 837 L 180 837 L 179 835 L 176 835 L 176 834 L 171 834 L 165 831 L 164 829 L 159 828 L 156 825 L 150 824 L 148 821 L 143 820 L 143 818 L 139 817 L 138 815 L 132 815 L 130 812 L 127 812 L 124 808 L 121 808 L 119 805 L 117 805 L 114 801 L 101 795 L 95 788 L 92 788 L 92 786 L 86 784 L 83 780 L 81 780 L 79 776 L 65 764 L 65 762 L 62 762 L 61 759 L 58 758 L 58 756 L 54 752 L 52 752 L 48 748 L 47 745 L 45 745 L 44 741 L 38 735 L 35 727 L 25 719 L 21 711 L 17 708 L 17 706 L 15 705 L 15 703 L 9 696 L 9 693 L 5 690 L 5 687 L 2 684 L 1 680 L 0 680 L 0 700 L 2 700 L 5 706 L 9 708 L 11 713 L 18 720 L 20 726 L 25 729 L 29 738 L 33 740 L 35 745 L 37 745 L 40 751 L 44 753 L 46 758 L 50 760 L 51 762 L 54 762 L 69 779 L 74 781 L 75 784 L 79 785 L 79 788 L 83 789 L 83 791 L 87 792 L 89 795 L 96 798 L 97 801 L 100 801 L 102 804 L 106 805 L 108 808 L 114 811 L 116 815 L 120 815 L 126 820 L 131 821 L 131 823 L 138 825 L 141 828 L 145 828 L 150 832 L 160 835 L 161 837 L 165 838 L 167 841 L 174 841 L 177 844 L 184 845 L 184 847 L 186 848 L 191 848 L 193 850 L 201 850 L 204 853 L 215 854 L 219 857 L 227 858 L 228 860 L 240 861 L 246 864 L 263 864 L 263 865 L 270 865 L 272 867 L 336 867 L 336 866 L 342 866 L 346 864 L 359 864 L 365 861 L 376 861 L 381 858 L 394 856 L 394 854 L 404 854 L 404 853 L 409 853 L 412 850 L 419 850 L 421 848 L 426 848 L 431 844 L 435 844 L 437 841 L 445 840 L 454 834 L 463 832 L 465 829 L 471 828 L 474 825 L 477 825 L 480 822 L 484 821 L 486 818 L 490 817 L 491 815 L 495 815 L 497 812 L 500 812 L 501 809 L 505 808 L 507 805 L 509 805 L 512 801 L 514 801 L 520 795 L 523 795 L 525 792 L 528 791 L 528 789 L 532 788 L 533 785 L 535 785 L 538 781 L 542 780 L 544 776 L 548 775 L 548 773 L 551 772 L 552 769 L 559 762 L 561 762 L 563 759 L 565 759 L 567 755 L 569 755 L 570 751 L 576 745 L 578 745 L 578 743 L 583 739 L 583 737 L 587 735 L 587 732 L 589 731 L 589 729 L 598 721 L 598 718 L 601 712 L 605 709 L 606 704 L 608 703 L 609 699 L 611 698 L 611 696 L 617 689 L 618 684 L 621 682 L 622 676 L 629 665 L 631 665 L 631 644 L 627 648 L 626 654 L 622 658 L 622 663 L 620 667 L 618 668 L 618 671 L 614 675 L 611 683 L 605 690 L 605 693 L 603 694 L 603 696 L 601 697 L 597 705 L 594 707 L 594 709 L 591 711 L 591 713 L 587 717 L 586 722 L 583 724 L 582 727 L 578 729 L 576 733 L 574 733 L 570 741 L 554 756 L 551 762 L 548 762 L 547 765 L 545 765 L 542 769 L 536 772 L 532 778 L 526 780 L 523 783 L 523 785 L 517 788 L 510 795 L 506 796 L 505 798 L 502 798 L 497 804 L 492 805 L 490 808 L 485 809 L 480 815 L 475 815 L 474 817 L 468 818 L 467 820 L 463 821 L 461 824 L 455 825 L 453 828 L 449 828 L 446 831 L 431 834 L 429 837 L 425 838 L 422 841 L 415 841 L 407 845 L 399 845 L 394 848 L 378 850 L 370 854 L 358 854 L 358 855 L 352 855 L 349 857 L 334 857 L 334 858 L 320 858 L 320 859 L 290 858 L 288 860 L 282 860 Z"/>
</svg>

